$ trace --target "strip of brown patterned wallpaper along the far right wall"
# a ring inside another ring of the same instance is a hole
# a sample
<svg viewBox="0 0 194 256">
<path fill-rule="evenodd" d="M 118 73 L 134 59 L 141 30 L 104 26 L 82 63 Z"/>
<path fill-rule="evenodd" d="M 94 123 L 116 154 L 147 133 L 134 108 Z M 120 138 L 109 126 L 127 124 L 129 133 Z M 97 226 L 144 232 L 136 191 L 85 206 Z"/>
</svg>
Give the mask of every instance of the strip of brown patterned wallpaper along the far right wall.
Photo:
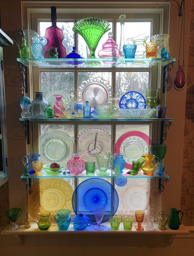
<svg viewBox="0 0 194 256">
<path fill-rule="evenodd" d="M 194 226 L 194 2 L 191 8 L 181 186 L 181 210 L 184 212 L 182 223 L 186 226 Z"/>
</svg>

